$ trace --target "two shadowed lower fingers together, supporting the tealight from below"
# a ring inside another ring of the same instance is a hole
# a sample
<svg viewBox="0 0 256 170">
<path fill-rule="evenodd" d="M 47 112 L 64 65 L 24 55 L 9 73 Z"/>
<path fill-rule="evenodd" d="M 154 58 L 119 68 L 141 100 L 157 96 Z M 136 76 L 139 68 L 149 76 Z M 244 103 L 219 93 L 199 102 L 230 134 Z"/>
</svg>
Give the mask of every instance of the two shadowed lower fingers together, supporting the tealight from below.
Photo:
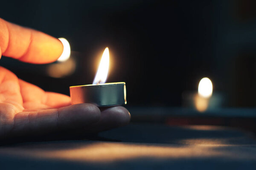
<svg viewBox="0 0 256 170">
<path fill-rule="evenodd" d="M 73 133 L 95 133 L 127 125 L 130 113 L 122 106 L 106 108 L 100 113 L 92 104 L 77 104 L 59 109 L 20 112 L 15 115 L 12 134 L 52 133 L 67 130 Z"/>
</svg>

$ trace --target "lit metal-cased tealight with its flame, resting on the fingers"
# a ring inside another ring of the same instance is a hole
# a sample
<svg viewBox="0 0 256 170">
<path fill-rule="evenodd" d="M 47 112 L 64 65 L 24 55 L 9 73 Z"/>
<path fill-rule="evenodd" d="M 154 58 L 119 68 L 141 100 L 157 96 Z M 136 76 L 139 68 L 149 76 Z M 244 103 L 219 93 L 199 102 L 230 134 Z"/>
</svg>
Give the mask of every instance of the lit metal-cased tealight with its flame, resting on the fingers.
<svg viewBox="0 0 256 170">
<path fill-rule="evenodd" d="M 72 104 L 92 103 L 98 107 L 126 104 L 125 82 L 105 83 L 108 77 L 108 47 L 102 54 L 98 71 L 92 85 L 70 86 Z"/>
</svg>

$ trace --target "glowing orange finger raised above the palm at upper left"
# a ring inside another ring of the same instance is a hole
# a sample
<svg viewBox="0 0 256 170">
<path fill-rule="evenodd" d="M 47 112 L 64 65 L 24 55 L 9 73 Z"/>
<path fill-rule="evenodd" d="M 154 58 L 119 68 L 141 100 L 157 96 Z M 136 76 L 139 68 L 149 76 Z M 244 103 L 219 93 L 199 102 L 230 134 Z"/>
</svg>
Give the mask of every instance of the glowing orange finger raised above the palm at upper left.
<svg viewBox="0 0 256 170">
<path fill-rule="evenodd" d="M 0 56 L 19 59 L 23 62 L 43 64 L 61 56 L 60 40 L 30 28 L 9 23 L 0 18 Z"/>
</svg>

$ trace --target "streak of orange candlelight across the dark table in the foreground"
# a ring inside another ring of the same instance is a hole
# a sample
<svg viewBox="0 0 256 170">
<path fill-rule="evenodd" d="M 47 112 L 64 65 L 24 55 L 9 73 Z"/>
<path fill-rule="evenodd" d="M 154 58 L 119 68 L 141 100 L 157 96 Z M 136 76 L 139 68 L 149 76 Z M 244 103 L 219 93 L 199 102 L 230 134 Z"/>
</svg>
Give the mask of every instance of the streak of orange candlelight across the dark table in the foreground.
<svg viewBox="0 0 256 170">
<path fill-rule="evenodd" d="M 205 142 L 204 142 L 205 141 Z M 102 143 L 78 145 L 79 147 L 56 148 L 43 150 L 36 148 L 7 148 L 1 149 L 0 153 L 7 155 L 27 156 L 33 158 L 59 159 L 81 162 L 111 162 L 122 160 L 136 160 L 145 158 L 178 159 L 178 158 L 212 158 L 213 156 L 233 156 L 231 152 L 223 152 L 218 148 L 218 142 L 211 139 L 202 139 L 199 144 L 189 145 L 195 141 L 181 141 L 188 143 L 183 147 L 156 144 L 125 144 L 125 143 Z M 214 149 L 216 147 L 216 149 Z"/>
</svg>

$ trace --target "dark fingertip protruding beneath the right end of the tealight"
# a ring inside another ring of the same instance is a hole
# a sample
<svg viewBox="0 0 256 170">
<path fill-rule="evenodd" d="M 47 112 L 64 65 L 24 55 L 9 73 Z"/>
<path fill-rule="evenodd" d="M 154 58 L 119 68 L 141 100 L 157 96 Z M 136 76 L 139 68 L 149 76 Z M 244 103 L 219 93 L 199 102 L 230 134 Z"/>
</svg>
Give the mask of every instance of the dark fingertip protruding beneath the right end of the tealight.
<svg viewBox="0 0 256 170">
<path fill-rule="evenodd" d="M 85 127 L 85 132 L 95 133 L 103 130 L 108 130 L 115 127 L 128 125 L 131 115 L 129 111 L 122 106 L 115 106 L 101 109 L 101 117 L 99 122 L 96 122 L 90 127 Z"/>
</svg>

